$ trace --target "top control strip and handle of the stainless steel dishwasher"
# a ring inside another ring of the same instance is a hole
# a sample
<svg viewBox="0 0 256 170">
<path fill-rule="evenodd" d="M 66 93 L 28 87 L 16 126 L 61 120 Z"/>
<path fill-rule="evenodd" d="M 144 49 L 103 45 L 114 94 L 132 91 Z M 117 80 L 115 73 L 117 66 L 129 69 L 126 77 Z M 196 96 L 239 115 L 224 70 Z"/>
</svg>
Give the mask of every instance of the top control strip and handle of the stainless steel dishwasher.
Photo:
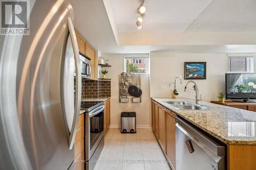
<svg viewBox="0 0 256 170">
<path fill-rule="evenodd" d="M 189 138 L 194 138 L 197 140 L 195 143 L 199 142 L 200 145 L 203 145 L 217 156 L 225 156 L 225 146 L 223 144 L 220 144 L 217 141 L 209 138 L 207 135 L 203 134 L 180 117 L 176 117 L 176 122 L 177 128 L 179 128 Z"/>
</svg>

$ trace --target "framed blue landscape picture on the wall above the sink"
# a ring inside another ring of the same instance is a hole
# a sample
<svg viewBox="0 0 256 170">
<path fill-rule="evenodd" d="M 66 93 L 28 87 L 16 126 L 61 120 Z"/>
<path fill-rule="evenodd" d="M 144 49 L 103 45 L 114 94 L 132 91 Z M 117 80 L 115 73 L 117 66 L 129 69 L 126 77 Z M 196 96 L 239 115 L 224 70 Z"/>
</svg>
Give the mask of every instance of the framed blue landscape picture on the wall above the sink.
<svg viewBox="0 0 256 170">
<path fill-rule="evenodd" d="M 185 62 L 186 80 L 206 79 L 206 62 Z"/>
</svg>

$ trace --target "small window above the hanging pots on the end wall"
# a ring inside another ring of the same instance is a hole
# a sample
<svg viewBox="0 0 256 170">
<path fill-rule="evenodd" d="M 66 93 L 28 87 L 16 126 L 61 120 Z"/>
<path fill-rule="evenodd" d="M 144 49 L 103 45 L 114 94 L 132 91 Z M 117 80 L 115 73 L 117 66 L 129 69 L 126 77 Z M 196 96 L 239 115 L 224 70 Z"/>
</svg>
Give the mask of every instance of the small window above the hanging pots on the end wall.
<svg viewBox="0 0 256 170">
<path fill-rule="evenodd" d="M 148 73 L 148 54 L 125 54 L 124 71 L 131 73 Z"/>
</svg>

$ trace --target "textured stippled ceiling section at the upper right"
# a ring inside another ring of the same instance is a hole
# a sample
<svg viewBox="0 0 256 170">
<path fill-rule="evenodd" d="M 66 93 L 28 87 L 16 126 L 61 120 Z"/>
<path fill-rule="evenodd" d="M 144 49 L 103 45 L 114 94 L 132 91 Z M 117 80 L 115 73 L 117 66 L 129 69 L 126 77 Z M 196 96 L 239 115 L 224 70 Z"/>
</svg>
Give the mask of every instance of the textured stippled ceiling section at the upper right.
<svg viewBox="0 0 256 170">
<path fill-rule="evenodd" d="M 214 0 L 186 32 L 243 32 L 256 30 L 255 0 Z"/>
</svg>

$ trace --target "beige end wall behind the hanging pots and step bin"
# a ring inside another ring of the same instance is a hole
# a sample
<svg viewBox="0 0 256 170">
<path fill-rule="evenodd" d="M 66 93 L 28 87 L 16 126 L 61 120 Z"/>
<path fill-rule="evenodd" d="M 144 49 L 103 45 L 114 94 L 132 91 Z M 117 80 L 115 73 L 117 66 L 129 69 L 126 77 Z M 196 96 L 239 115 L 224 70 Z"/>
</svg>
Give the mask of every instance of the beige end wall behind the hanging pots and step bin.
<svg viewBox="0 0 256 170">
<path fill-rule="evenodd" d="M 142 99 L 141 103 L 119 103 L 119 81 L 118 76 L 123 72 L 122 54 L 102 54 L 102 57 L 110 60 L 112 67 L 104 67 L 109 73 L 106 78 L 111 78 L 111 127 L 120 127 L 120 114 L 122 111 L 135 111 L 137 127 L 148 127 L 150 125 L 150 88 L 149 75 L 141 74 Z"/>
</svg>

